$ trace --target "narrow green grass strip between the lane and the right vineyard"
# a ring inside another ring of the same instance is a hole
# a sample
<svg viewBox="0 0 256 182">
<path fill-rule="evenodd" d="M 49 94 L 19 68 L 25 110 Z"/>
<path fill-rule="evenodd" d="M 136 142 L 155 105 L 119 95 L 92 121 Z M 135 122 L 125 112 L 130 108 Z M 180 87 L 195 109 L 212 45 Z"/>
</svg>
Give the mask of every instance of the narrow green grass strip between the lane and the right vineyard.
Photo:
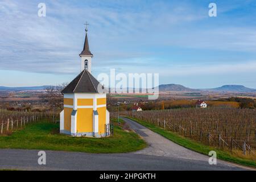
<svg viewBox="0 0 256 182">
<path fill-rule="evenodd" d="M 152 125 L 151 123 L 147 123 L 147 122 L 141 121 L 139 119 L 134 119 L 134 118 L 130 118 L 130 117 L 127 117 L 127 118 L 132 119 L 133 121 L 140 123 L 141 125 L 154 131 L 155 133 L 158 133 L 158 134 L 162 135 L 163 137 L 171 140 L 172 142 L 175 142 L 175 143 L 179 144 L 180 146 L 189 148 L 193 151 L 196 151 L 196 152 L 199 152 L 199 153 L 205 154 L 205 155 L 208 155 L 209 151 L 216 151 L 218 159 L 226 160 L 229 162 L 242 164 L 242 165 L 250 166 L 250 167 L 254 167 L 254 168 L 256 167 L 255 160 L 242 159 L 242 158 L 239 158 L 238 156 L 234 156 L 229 151 L 224 151 L 217 147 L 206 146 L 206 145 L 204 145 L 200 142 L 197 142 L 195 140 L 191 140 L 189 138 L 182 137 L 182 136 L 180 136 L 176 133 L 173 133 L 171 131 L 166 131 L 161 127 Z"/>
</svg>

